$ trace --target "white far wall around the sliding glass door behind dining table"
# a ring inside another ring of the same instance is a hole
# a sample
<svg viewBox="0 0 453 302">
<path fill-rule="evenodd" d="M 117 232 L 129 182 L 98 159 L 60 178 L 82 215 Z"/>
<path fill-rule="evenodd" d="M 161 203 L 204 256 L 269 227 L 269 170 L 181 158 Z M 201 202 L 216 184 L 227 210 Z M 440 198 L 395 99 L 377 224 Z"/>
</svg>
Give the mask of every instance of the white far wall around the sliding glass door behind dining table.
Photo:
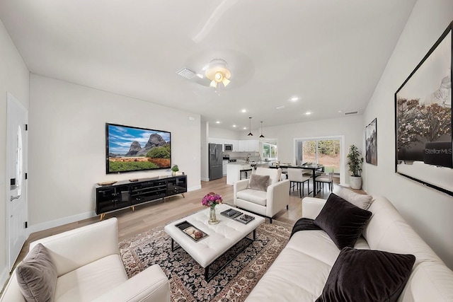
<svg viewBox="0 0 453 302">
<path fill-rule="evenodd" d="M 344 136 L 345 182 L 349 183 L 348 165 L 345 161 L 349 146 L 354 144 L 362 151 L 362 136 L 365 128 L 362 127 L 363 116 L 352 115 L 338 117 L 331 120 L 319 120 L 316 122 L 300 122 L 297 124 L 284 124 L 277 127 L 263 128 L 266 139 L 277 139 L 277 156 L 280 163 L 295 163 L 294 139 L 314 137 L 340 137 Z M 343 181 L 342 181 L 343 183 Z"/>
</svg>

